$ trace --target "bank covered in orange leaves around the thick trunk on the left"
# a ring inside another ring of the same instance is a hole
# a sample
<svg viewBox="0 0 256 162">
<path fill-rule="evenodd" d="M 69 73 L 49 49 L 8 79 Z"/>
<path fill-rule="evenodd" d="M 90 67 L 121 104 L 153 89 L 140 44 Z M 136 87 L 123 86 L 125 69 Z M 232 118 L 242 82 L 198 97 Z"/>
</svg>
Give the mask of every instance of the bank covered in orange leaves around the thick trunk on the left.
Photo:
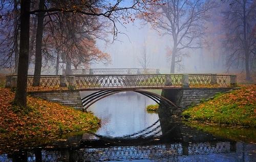
<svg viewBox="0 0 256 162">
<path fill-rule="evenodd" d="M 54 138 L 61 133 L 97 129 L 100 120 L 92 113 L 28 97 L 28 107 L 11 104 L 14 93 L 0 88 L 0 154 L 7 145 L 33 138 Z"/>
</svg>

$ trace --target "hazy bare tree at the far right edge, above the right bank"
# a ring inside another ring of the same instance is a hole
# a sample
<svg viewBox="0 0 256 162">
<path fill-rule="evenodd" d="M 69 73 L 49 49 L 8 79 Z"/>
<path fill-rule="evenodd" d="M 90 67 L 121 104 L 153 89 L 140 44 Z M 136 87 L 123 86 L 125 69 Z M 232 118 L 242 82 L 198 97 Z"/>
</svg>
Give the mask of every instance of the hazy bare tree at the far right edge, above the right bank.
<svg viewBox="0 0 256 162">
<path fill-rule="evenodd" d="M 256 56 L 256 2 L 253 0 L 230 0 L 223 12 L 226 37 L 224 48 L 228 53 L 227 66 L 245 65 L 246 79 L 250 77 L 250 61 Z M 252 63 L 251 63 L 252 64 Z"/>
</svg>

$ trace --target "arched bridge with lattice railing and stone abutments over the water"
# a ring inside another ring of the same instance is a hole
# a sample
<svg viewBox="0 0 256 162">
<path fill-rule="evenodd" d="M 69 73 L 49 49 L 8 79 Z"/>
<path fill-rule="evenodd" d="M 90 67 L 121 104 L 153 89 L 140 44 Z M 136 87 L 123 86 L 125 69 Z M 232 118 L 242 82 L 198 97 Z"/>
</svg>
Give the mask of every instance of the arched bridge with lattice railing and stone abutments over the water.
<svg viewBox="0 0 256 162">
<path fill-rule="evenodd" d="M 40 80 L 33 86 L 33 80 Z M 15 88 L 17 76 L 7 76 L 6 87 Z M 109 74 L 109 75 L 40 75 L 28 76 L 27 90 L 31 95 L 69 106 L 87 109 L 96 101 L 125 91 L 150 97 L 157 103 L 165 101 L 174 107 L 199 103 L 218 92 L 236 87 L 236 75 L 220 74 Z M 162 95 L 144 91 L 162 89 Z M 79 91 L 86 96 L 80 98 Z"/>
</svg>

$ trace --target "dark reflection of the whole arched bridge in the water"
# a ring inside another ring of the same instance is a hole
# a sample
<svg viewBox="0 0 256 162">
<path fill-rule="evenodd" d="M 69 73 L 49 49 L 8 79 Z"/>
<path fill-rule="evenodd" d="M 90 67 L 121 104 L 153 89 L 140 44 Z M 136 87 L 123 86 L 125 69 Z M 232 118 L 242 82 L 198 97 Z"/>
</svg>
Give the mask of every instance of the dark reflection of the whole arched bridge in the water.
<svg viewBox="0 0 256 162">
<path fill-rule="evenodd" d="M 159 114 L 156 121 L 137 133 L 120 138 L 83 134 L 58 141 L 50 147 L 23 150 L 28 161 L 99 161 L 160 159 L 191 161 L 200 157 L 212 160 L 212 155 L 223 159 L 238 153 L 237 143 L 188 127 L 175 118 Z M 160 125 L 160 128 L 158 128 Z M 156 129 L 155 129 L 156 128 Z M 154 130 L 154 131 L 152 131 Z M 149 134 L 147 134 L 147 132 Z"/>
</svg>

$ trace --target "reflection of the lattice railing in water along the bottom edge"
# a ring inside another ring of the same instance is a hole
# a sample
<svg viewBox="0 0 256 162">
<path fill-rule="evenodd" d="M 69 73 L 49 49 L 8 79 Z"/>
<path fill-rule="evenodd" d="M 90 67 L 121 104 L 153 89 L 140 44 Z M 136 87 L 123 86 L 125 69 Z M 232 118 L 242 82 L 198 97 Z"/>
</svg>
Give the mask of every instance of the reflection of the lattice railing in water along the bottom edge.
<svg viewBox="0 0 256 162">
<path fill-rule="evenodd" d="M 172 159 L 178 161 L 184 155 L 207 155 L 233 152 L 229 142 L 160 144 L 152 146 L 80 148 L 28 151 L 28 161 L 99 161 L 124 159 Z M 39 151 L 39 153 L 38 153 Z M 232 153 L 231 153 L 232 154 Z M 38 157 L 40 155 L 40 157 Z M 195 156 L 194 156 L 195 157 Z M 13 160 L 15 160 L 14 157 Z M 18 158 L 17 158 L 18 159 Z"/>
</svg>

